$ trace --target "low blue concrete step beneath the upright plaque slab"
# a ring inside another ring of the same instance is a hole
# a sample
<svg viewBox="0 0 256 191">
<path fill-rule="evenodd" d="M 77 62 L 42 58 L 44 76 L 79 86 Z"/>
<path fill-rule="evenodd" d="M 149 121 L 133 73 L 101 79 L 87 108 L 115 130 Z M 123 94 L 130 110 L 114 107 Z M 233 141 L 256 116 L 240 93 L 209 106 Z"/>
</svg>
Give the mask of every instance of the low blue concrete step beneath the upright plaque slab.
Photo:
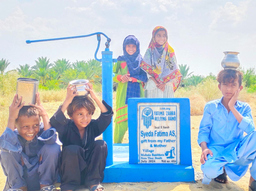
<svg viewBox="0 0 256 191">
<path fill-rule="evenodd" d="M 103 182 L 195 182 L 195 176 L 190 165 L 114 162 L 106 166 Z"/>
</svg>

